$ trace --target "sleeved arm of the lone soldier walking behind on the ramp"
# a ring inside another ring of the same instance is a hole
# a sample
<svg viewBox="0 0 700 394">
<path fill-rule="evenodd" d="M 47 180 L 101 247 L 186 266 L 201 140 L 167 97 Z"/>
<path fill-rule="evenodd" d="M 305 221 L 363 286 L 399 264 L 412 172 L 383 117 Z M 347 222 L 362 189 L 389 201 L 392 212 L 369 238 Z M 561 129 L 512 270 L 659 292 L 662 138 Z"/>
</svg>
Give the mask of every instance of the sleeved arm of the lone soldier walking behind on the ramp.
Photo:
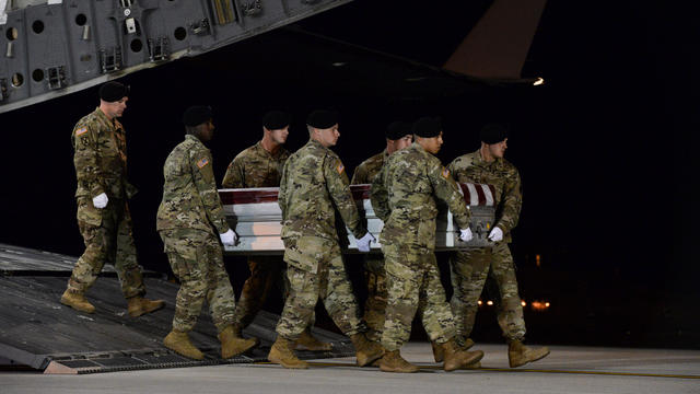
<svg viewBox="0 0 700 394">
<path fill-rule="evenodd" d="M 73 129 L 73 163 L 78 184 L 90 190 L 92 197 L 105 193 L 97 161 L 97 130 L 90 125 L 79 124 Z"/>
</svg>

